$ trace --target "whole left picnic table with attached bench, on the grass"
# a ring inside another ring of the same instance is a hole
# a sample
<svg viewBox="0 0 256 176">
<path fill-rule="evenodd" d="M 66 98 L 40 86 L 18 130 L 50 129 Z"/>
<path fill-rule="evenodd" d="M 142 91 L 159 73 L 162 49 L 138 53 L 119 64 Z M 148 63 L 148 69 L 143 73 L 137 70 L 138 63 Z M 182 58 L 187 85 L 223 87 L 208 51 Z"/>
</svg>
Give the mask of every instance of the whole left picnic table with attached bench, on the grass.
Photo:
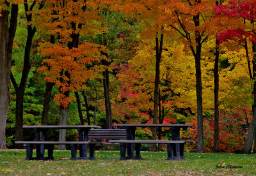
<svg viewBox="0 0 256 176">
<path fill-rule="evenodd" d="M 51 144 L 51 143 L 56 143 L 56 144 L 72 144 L 72 143 L 73 144 L 79 144 L 80 158 L 77 158 L 76 154 L 74 154 L 73 159 L 88 159 L 87 158 L 88 133 L 89 133 L 91 128 L 101 128 L 101 127 L 100 126 L 95 126 L 95 125 L 54 125 L 54 126 L 23 126 L 23 128 L 32 128 L 35 131 L 35 140 L 36 141 L 34 143 L 37 142 L 36 143 L 36 158 L 33 158 L 33 159 L 51 159 L 51 158 L 44 157 L 45 144 Z M 46 136 L 47 133 L 46 132 L 49 129 L 77 129 L 78 136 L 79 136 L 79 142 L 45 142 L 45 139 L 47 138 L 47 136 Z M 40 138 L 40 133 L 42 133 L 41 138 Z M 25 142 L 19 142 L 19 143 L 25 143 Z M 33 142 L 31 142 L 31 143 L 33 143 Z M 28 150 L 27 150 L 27 152 L 28 152 Z M 76 152 L 76 151 L 74 151 L 74 152 Z"/>
</svg>

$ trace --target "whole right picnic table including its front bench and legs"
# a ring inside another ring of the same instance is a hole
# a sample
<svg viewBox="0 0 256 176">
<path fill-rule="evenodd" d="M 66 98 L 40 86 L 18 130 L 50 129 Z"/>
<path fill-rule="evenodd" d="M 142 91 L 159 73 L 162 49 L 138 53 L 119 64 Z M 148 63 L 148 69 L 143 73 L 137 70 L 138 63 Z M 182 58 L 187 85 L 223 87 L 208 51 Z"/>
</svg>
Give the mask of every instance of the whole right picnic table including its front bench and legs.
<svg viewBox="0 0 256 176">
<path fill-rule="evenodd" d="M 186 142 L 193 142 L 193 141 L 180 141 L 180 128 L 188 128 L 192 126 L 191 124 L 114 124 L 115 126 L 122 126 L 125 127 L 127 130 L 127 156 L 124 154 L 124 149 L 121 149 L 121 157 L 120 159 L 140 159 L 140 147 L 137 147 L 136 150 L 138 150 L 138 154 L 134 156 L 134 143 L 167 143 L 168 147 L 170 148 L 172 145 L 172 151 L 171 149 L 168 149 L 168 158 L 172 160 L 177 159 L 185 159 L 184 158 L 184 143 Z M 138 127 L 146 128 L 146 127 L 167 127 L 172 129 L 172 141 L 150 141 L 150 140 L 135 140 L 135 131 Z M 131 140 L 131 142 L 129 142 Z M 120 144 L 122 141 L 119 141 Z M 123 143 L 122 143 L 123 145 Z M 181 146 L 181 147 L 180 147 Z M 121 146 L 122 147 L 122 146 Z M 125 146 L 124 146 L 125 147 Z M 123 150 L 123 151 L 122 151 Z M 181 151 L 180 151 L 181 150 Z"/>
</svg>

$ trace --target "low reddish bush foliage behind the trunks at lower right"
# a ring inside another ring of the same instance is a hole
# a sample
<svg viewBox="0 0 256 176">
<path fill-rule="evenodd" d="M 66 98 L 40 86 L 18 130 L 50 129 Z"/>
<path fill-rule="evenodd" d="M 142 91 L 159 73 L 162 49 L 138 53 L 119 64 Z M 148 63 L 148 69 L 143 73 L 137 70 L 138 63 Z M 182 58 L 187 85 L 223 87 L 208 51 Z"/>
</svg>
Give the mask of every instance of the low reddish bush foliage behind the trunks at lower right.
<svg viewBox="0 0 256 176">
<path fill-rule="evenodd" d="M 248 131 L 247 119 L 252 120 L 252 110 L 237 109 L 234 112 L 220 114 L 220 150 L 223 152 L 239 152 L 243 150 L 244 139 Z M 189 128 L 189 135 L 193 140 L 197 139 L 197 121 L 196 117 L 190 119 L 189 124 L 193 127 Z M 211 152 L 214 143 L 214 118 L 204 120 L 204 143 L 205 150 Z"/>
</svg>

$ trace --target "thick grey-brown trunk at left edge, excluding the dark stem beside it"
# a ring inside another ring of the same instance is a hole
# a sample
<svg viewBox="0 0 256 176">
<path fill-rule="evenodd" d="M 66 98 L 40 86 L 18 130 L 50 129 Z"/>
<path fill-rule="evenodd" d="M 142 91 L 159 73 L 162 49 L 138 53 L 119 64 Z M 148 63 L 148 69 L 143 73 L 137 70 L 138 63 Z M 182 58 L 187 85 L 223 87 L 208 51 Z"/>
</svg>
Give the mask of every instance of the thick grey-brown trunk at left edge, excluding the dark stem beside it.
<svg viewBox="0 0 256 176">
<path fill-rule="evenodd" d="M 0 14 L 0 149 L 6 149 L 5 127 L 10 103 L 11 61 L 8 58 L 8 11 Z"/>
</svg>

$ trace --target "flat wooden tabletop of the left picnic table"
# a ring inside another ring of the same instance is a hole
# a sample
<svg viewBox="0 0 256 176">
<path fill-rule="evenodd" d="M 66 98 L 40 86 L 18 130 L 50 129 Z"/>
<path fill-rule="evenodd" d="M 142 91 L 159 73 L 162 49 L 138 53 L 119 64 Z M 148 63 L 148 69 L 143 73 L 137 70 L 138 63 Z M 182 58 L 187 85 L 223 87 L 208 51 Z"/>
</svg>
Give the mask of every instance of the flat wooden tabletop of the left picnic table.
<svg viewBox="0 0 256 176">
<path fill-rule="evenodd" d="M 97 125 L 40 125 L 40 126 L 23 126 L 23 128 L 76 129 L 76 128 L 101 128 L 101 127 Z"/>
</svg>

